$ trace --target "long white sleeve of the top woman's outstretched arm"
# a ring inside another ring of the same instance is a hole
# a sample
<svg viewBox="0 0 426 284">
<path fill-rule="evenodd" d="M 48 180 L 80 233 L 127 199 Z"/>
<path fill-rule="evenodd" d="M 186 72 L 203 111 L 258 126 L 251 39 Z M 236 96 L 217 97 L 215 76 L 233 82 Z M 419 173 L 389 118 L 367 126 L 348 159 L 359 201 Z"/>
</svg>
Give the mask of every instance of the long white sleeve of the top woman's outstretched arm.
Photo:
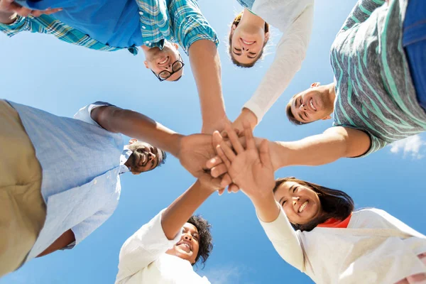
<svg viewBox="0 0 426 284">
<path fill-rule="evenodd" d="M 260 122 L 266 112 L 290 84 L 302 67 L 312 33 L 313 5 L 307 6 L 298 18 L 283 32 L 277 45 L 275 58 L 266 71 L 261 84 L 244 107 L 256 114 Z"/>
</svg>

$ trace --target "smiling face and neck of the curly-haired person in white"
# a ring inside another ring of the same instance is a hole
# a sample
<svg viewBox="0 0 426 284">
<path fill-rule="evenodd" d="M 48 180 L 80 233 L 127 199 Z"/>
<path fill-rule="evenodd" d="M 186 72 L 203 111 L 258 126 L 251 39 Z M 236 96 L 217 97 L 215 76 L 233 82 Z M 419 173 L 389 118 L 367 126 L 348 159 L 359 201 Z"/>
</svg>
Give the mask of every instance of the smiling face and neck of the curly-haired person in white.
<svg viewBox="0 0 426 284">
<path fill-rule="evenodd" d="M 200 235 L 198 234 L 197 227 L 190 223 L 185 223 L 182 228 L 180 241 L 165 253 L 172 256 L 178 256 L 191 264 L 195 263 L 200 248 Z"/>
</svg>

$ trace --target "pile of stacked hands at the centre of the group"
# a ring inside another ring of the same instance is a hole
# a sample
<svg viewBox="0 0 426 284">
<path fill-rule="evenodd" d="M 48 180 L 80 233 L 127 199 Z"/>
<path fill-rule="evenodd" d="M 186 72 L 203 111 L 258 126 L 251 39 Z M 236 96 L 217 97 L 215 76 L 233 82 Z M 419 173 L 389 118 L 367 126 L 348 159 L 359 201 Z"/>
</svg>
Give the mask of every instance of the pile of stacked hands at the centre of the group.
<svg viewBox="0 0 426 284">
<path fill-rule="evenodd" d="M 222 195 L 240 189 L 249 197 L 270 193 L 275 186 L 268 141 L 256 146 L 250 124 L 237 134 L 231 126 L 213 135 L 193 134 L 181 140 L 178 158 L 195 178 Z"/>
</svg>

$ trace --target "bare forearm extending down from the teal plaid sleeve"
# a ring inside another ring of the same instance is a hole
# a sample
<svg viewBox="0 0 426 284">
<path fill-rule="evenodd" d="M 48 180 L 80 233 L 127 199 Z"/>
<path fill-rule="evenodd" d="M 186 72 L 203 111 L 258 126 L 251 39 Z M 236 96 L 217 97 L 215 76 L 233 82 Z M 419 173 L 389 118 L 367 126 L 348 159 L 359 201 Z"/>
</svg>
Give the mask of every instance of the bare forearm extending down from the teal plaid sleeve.
<svg viewBox="0 0 426 284">
<path fill-rule="evenodd" d="M 222 96 L 221 67 L 216 44 L 197 40 L 188 50 L 202 113 L 202 132 L 222 131 L 227 121 Z"/>
</svg>

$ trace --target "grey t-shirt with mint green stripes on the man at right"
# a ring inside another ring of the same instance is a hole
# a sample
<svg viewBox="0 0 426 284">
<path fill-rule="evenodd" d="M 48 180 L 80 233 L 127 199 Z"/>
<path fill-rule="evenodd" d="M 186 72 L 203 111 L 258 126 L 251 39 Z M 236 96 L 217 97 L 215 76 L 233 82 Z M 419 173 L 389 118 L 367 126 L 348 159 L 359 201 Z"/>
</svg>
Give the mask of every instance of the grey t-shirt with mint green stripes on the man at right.
<svg viewBox="0 0 426 284">
<path fill-rule="evenodd" d="M 402 44 L 408 0 L 359 0 L 336 36 L 334 126 L 365 131 L 371 147 L 426 131 Z"/>
</svg>

